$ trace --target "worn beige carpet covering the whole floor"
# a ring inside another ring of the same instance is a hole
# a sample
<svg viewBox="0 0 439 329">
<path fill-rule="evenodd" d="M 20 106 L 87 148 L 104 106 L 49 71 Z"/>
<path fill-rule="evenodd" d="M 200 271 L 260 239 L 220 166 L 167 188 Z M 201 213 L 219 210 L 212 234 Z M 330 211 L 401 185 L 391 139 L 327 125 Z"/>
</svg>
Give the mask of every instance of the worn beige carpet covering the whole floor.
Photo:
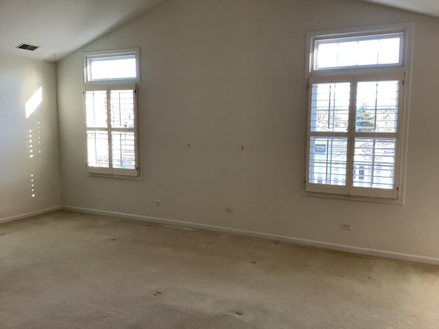
<svg viewBox="0 0 439 329">
<path fill-rule="evenodd" d="M 439 267 L 53 212 L 0 225 L 0 328 L 439 328 Z"/>
</svg>

